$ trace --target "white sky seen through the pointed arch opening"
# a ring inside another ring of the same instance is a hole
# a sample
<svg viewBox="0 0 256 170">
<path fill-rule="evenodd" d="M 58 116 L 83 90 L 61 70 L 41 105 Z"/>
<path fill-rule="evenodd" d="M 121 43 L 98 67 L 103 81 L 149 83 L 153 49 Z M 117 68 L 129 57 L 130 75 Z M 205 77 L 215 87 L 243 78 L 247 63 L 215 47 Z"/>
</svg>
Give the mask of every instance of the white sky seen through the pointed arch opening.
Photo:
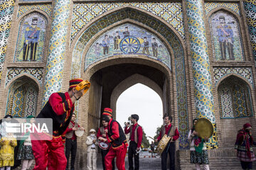
<svg viewBox="0 0 256 170">
<path fill-rule="evenodd" d="M 139 125 L 146 136 L 154 137 L 156 128 L 163 124 L 163 103 L 155 91 L 143 84 L 135 84 L 117 99 L 116 120 L 124 127 L 132 114 L 139 115 Z M 149 142 L 152 140 L 148 137 Z"/>
</svg>

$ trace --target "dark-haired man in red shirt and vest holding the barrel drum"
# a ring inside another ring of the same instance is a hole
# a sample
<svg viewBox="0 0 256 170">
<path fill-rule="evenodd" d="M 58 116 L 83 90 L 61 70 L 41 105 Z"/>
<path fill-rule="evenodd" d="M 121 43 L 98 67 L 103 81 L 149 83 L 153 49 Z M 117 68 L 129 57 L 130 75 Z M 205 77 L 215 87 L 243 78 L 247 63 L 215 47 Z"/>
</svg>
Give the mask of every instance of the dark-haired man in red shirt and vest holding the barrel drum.
<svg viewBox="0 0 256 170">
<path fill-rule="evenodd" d="M 169 140 L 169 144 L 164 149 L 164 151 L 161 154 L 161 169 L 166 170 L 167 169 L 167 156 L 169 153 L 170 157 L 170 170 L 175 169 L 175 141 L 178 140 L 179 132 L 174 125 L 171 124 L 172 117 L 171 115 L 164 115 L 164 126 L 161 127 L 161 131 L 159 133 L 159 137 L 155 140 L 155 142 L 159 142 L 164 135 L 168 135 L 171 137 L 171 140 Z"/>
</svg>

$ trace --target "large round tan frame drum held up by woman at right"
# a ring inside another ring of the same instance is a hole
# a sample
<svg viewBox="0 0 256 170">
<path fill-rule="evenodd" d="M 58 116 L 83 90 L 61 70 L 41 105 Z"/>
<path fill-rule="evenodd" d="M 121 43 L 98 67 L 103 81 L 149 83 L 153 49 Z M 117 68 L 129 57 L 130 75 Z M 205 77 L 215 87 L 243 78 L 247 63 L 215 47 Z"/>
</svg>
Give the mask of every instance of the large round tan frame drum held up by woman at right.
<svg viewBox="0 0 256 170">
<path fill-rule="evenodd" d="M 210 138 L 213 135 L 213 124 L 206 118 L 200 118 L 196 122 L 195 130 L 199 133 L 199 137 Z"/>
</svg>

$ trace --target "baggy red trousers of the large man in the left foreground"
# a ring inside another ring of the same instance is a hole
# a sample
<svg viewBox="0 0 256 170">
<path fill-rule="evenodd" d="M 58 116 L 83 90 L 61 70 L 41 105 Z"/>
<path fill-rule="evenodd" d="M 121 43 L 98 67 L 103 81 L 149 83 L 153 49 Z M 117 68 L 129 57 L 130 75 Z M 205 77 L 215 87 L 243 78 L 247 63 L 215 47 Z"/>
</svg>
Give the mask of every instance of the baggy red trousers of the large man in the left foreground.
<svg viewBox="0 0 256 170">
<path fill-rule="evenodd" d="M 65 170 L 67 159 L 62 137 L 53 140 L 31 140 L 36 165 L 33 170 Z"/>
</svg>

